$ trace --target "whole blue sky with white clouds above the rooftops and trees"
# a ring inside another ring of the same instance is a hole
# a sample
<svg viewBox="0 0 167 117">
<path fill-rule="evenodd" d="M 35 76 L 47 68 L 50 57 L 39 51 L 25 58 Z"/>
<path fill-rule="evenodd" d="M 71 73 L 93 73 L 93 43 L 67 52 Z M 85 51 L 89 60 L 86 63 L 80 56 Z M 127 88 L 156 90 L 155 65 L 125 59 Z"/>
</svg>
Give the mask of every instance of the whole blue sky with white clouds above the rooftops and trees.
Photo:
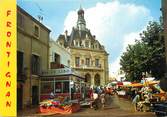
<svg viewBox="0 0 167 117">
<path fill-rule="evenodd" d="M 81 5 L 87 28 L 109 53 L 110 75 L 120 68 L 127 45 L 140 40 L 148 22 L 161 16 L 161 0 L 17 0 L 17 4 L 35 18 L 42 16 L 54 40 L 65 30 L 71 33 Z"/>
</svg>

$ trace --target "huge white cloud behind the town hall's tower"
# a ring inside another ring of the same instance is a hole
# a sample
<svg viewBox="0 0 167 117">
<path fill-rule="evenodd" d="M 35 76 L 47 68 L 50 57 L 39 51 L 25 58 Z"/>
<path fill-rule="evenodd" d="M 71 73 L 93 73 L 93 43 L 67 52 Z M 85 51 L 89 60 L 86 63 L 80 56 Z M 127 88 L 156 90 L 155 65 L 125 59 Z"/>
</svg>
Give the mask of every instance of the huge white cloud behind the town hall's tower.
<svg viewBox="0 0 167 117">
<path fill-rule="evenodd" d="M 114 66 L 119 66 L 120 55 L 126 46 L 133 44 L 138 33 L 153 19 L 146 7 L 120 1 L 99 2 L 84 11 L 87 28 L 110 54 L 110 72 L 116 71 Z M 76 21 L 77 10 L 70 11 L 64 21 L 64 30 L 70 32 Z"/>
</svg>

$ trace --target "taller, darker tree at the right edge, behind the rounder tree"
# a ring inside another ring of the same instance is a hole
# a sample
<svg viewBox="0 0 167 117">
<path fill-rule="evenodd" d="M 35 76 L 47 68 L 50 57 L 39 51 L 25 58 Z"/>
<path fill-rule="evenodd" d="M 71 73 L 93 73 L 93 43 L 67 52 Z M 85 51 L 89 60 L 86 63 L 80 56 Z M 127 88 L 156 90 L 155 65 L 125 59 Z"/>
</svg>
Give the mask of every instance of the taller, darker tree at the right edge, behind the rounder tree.
<svg viewBox="0 0 167 117">
<path fill-rule="evenodd" d="M 147 30 L 140 34 L 140 37 L 149 49 L 150 58 L 146 64 L 149 66 L 152 76 L 160 79 L 165 73 L 165 40 L 161 36 L 162 24 L 149 22 Z"/>
</svg>

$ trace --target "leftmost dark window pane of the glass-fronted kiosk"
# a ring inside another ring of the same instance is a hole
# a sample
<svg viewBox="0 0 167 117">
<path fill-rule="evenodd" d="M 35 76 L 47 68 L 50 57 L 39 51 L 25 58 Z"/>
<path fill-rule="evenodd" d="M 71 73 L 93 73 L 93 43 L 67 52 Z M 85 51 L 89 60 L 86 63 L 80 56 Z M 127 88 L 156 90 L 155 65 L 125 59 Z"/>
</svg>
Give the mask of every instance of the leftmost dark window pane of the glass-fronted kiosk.
<svg viewBox="0 0 167 117">
<path fill-rule="evenodd" d="M 41 94 L 49 94 L 54 91 L 53 82 L 41 82 Z"/>
</svg>

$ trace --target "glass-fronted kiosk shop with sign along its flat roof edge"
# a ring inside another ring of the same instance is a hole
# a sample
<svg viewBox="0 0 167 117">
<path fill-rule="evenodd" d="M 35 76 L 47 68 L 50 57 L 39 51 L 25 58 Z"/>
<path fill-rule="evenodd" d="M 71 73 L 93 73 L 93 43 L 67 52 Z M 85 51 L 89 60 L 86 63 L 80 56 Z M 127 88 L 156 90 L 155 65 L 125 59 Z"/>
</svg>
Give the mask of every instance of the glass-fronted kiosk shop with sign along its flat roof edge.
<svg viewBox="0 0 167 117">
<path fill-rule="evenodd" d="M 49 99 L 51 93 L 70 100 L 82 99 L 84 89 L 84 78 L 71 68 L 50 69 L 41 74 L 40 101 Z"/>
</svg>

